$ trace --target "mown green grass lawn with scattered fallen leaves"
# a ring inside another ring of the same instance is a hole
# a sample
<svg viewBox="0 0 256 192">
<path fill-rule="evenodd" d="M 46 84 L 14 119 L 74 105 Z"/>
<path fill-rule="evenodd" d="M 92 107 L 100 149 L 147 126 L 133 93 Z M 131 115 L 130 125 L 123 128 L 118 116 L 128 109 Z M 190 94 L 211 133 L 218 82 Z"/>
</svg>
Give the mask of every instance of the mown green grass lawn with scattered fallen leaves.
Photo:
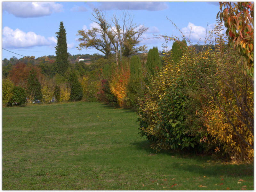
<svg viewBox="0 0 256 192">
<path fill-rule="evenodd" d="M 3 108 L 3 190 L 253 190 L 253 164 L 155 154 L 136 120 L 100 103 Z"/>
</svg>

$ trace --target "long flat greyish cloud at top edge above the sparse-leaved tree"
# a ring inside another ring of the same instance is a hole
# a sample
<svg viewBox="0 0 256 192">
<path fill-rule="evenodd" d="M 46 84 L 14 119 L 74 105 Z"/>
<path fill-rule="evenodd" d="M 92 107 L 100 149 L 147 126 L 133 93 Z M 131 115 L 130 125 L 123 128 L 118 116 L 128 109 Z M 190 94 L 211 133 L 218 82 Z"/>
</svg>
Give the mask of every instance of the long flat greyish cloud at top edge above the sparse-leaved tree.
<svg viewBox="0 0 256 192">
<path fill-rule="evenodd" d="M 162 11 L 167 9 L 165 2 L 101 2 L 100 10 L 147 10 Z"/>
</svg>

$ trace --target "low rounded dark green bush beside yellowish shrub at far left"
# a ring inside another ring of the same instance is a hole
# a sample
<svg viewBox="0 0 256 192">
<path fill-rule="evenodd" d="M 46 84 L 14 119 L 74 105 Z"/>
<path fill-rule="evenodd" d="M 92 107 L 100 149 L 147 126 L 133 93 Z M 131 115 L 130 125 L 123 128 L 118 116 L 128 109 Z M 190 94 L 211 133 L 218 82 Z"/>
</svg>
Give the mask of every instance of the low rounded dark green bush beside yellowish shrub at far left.
<svg viewBox="0 0 256 192">
<path fill-rule="evenodd" d="M 26 91 L 22 87 L 14 86 L 12 89 L 12 98 L 9 101 L 9 105 L 23 105 L 27 101 Z"/>
</svg>

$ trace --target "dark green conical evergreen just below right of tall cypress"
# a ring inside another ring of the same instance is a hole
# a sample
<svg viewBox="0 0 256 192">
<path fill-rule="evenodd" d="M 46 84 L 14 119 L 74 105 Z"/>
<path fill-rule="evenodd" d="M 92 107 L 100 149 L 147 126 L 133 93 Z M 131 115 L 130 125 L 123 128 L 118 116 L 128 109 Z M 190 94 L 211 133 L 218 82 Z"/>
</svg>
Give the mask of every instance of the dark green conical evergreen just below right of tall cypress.
<svg viewBox="0 0 256 192">
<path fill-rule="evenodd" d="M 77 75 L 72 71 L 68 78 L 69 83 L 71 83 L 70 91 L 70 101 L 78 101 L 83 98 L 83 88 L 81 83 L 78 81 Z"/>
</svg>

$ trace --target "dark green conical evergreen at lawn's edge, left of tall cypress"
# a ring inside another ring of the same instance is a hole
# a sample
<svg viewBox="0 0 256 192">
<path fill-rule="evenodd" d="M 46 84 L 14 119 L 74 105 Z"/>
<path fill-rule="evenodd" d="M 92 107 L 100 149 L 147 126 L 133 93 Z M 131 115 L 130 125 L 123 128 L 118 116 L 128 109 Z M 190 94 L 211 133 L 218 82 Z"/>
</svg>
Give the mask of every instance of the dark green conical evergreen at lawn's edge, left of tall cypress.
<svg viewBox="0 0 256 192">
<path fill-rule="evenodd" d="M 41 92 L 41 84 L 39 83 L 38 78 L 36 77 L 35 69 L 29 71 L 28 76 L 28 94 L 34 97 L 34 100 L 41 100 L 43 95 Z"/>
</svg>

